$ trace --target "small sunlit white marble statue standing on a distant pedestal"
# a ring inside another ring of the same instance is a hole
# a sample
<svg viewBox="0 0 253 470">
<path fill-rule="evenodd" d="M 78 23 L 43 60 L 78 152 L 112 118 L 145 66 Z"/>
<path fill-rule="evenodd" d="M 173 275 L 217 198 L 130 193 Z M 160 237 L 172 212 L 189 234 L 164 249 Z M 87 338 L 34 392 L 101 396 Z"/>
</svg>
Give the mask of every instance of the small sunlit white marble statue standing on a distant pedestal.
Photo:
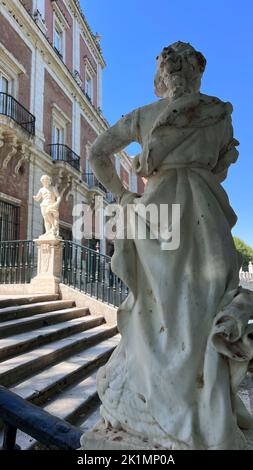
<svg viewBox="0 0 253 470">
<path fill-rule="evenodd" d="M 36 196 L 33 196 L 35 201 L 42 201 L 40 207 L 46 232 L 40 238 L 59 238 L 59 205 L 61 197 L 58 190 L 52 186 L 50 176 L 43 175 L 40 181 L 42 188 Z"/>
</svg>

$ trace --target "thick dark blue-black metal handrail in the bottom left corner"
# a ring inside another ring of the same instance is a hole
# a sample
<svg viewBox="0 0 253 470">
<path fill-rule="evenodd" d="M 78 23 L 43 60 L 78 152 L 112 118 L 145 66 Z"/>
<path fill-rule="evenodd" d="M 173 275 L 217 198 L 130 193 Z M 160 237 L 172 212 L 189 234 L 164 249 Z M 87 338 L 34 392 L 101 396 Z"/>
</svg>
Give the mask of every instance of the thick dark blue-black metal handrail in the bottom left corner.
<svg viewBox="0 0 253 470">
<path fill-rule="evenodd" d="M 17 450 L 17 429 L 47 448 L 76 450 L 83 431 L 0 386 L 0 417 L 4 422 L 3 450 Z"/>
</svg>

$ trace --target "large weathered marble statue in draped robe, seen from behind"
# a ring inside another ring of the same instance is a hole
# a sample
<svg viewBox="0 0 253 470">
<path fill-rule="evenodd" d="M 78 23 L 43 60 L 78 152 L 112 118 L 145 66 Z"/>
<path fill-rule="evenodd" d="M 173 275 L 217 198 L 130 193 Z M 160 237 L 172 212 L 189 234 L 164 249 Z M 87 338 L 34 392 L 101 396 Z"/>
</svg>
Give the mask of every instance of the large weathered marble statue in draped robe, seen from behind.
<svg viewBox="0 0 253 470">
<path fill-rule="evenodd" d="M 127 204 L 180 204 L 181 243 L 116 239 L 112 269 L 129 287 L 121 341 L 100 368 L 108 426 L 168 449 L 243 449 L 253 418 L 237 391 L 253 358 L 253 293 L 239 287 L 236 215 L 221 183 L 238 157 L 232 105 L 200 92 L 206 60 L 176 42 L 157 58 L 159 100 L 130 112 L 90 149 L 96 177 Z M 131 142 L 147 178 L 126 190 L 110 158 Z M 147 233 L 149 231 L 147 223 Z"/>
</svg>

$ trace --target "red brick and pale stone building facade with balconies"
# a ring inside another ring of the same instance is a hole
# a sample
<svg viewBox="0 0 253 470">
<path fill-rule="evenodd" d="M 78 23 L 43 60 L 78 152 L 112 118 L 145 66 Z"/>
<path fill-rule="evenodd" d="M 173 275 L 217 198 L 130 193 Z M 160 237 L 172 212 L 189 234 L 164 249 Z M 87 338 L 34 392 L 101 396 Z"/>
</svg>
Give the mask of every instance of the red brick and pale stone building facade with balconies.
<svg viewBox="0 0 253 470">
<path fill-rule="evenodd" d="M 42 174 L 51 175 L 62 193 L 64 238 L 72 236 L 74 205 L 89 204 L 95 194 L 110 202 L 86 159 L 108 128 L 104 67 L 99 38 L 77 0 L 0 2 L 0 240 L 42 233 L 32 198 Z M 115 155 L 115 165 L 126 187 L 143 191 L 126 152 Z M 108 250 L 105 241 L 100 249 Z"/>
</svg>

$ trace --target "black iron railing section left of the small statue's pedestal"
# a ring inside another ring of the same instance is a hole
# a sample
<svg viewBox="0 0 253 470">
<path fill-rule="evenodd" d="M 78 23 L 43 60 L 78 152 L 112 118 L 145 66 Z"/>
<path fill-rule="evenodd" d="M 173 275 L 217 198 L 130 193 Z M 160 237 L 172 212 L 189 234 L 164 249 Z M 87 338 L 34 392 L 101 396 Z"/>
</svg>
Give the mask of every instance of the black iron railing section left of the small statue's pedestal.
<svg viewBox="0 0 253 470">
<path fill-rule="evenodd" d="M 0 242 L 0 284 L 26 284 L 36 275 L 33 240 Z"/>
</svg>

